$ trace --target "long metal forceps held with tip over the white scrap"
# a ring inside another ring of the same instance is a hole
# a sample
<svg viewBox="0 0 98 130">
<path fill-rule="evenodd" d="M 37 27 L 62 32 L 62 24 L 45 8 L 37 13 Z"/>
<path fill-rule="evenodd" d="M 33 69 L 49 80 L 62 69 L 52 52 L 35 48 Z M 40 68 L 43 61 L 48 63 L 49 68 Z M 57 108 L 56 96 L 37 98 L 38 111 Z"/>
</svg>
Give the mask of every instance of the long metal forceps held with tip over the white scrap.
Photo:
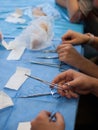
<svg viewBox="0 0 98 130">
<path fill-rule="evenodd" d="M 62 90 L 62 91 L 64 91 L 64 92 L 67 91 L 67 90 L 65 90 L 65 89 L 62 89 L 61 86 L 59 86 L 58 84 L 53 84 L 53 83 L 50 83 L 50 82 L 48 82 L 48 81 L 46 81 L 46 80 L 42 80 L 42 79 L 40 79 L 40 78 L 38 78 L 38 77 L 30 76 L 30 75 L 28 75 L 28 74 L 25 74 L 25 75 L 26 75 L 27 77 L 31 78 L 31 79 L 38 80 L 38 81 L 40 81 L 40 82 L 42 82 L 42 83 L 44 83 L 44 84 L 46 84 L 46 85 L 49 85 L 49 86 L 51 86 L 51 87 L 53 87 L 53 88 L 55 88 L 55 89 L 59 89 L 59 90 Z"/>
</svg>

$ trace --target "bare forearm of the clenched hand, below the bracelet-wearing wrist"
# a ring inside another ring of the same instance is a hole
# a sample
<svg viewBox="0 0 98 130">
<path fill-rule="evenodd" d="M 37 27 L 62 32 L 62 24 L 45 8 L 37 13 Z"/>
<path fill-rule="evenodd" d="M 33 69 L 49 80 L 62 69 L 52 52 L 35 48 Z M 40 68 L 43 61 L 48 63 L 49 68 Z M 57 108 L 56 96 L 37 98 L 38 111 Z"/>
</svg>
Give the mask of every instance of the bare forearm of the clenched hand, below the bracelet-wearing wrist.
<svg viewBox="0 0 98 130">
<path fill-rule="evenodd" d="M 98 66 L 84 57 L 77 63 L 77 68 L 87 75 L 98 78 Z"/>
</svg>

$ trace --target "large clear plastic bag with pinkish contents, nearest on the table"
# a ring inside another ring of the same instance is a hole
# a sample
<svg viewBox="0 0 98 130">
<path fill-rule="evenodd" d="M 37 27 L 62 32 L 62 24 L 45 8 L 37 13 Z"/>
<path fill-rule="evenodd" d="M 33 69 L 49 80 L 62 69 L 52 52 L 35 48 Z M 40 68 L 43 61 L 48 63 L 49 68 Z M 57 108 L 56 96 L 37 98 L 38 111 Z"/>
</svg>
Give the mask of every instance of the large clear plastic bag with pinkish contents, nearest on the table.
<svg viewBox="0 0 98 130">
<path fill-rule="evenodd" d="M 48 17 L 40 17 L 32 21 L 14 41 L 11 41 L 10 47 L 15 49 L 20 46 L 25 46 L 31 50 L 44 49 L 51 45 L 53 38 L 52 28 L 51 19 Z"/>
</svg>

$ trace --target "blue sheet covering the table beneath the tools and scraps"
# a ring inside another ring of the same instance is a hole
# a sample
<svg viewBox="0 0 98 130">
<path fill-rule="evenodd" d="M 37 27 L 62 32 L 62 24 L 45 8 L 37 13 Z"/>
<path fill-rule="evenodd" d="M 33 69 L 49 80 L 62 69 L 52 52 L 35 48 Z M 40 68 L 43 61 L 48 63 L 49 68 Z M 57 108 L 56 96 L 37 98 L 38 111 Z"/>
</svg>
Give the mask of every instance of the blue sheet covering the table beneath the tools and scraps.
<svg viewBox="0 0 98 130">
<path fill-rule="evenodd" d="M 67 30 L 71 29 L 77 32 L 83 32 L 82 24 L 72 24 L 66 19 L 64 20 L 64 12 L 66 10 L 57 6 L 54 0 L 47 0 L 55 8 L 57 8 L 62 18 L 55 20 L 54 32 L 57 38 L 60 38 Z M 6 12 L 14 11 L 15 8 L 24 8 L 27 6 L 36 6 L 37 4 L 44 3 L 45 0 L 0 0 L 0 29 L 4 36 L 15 37 L 21 33 L 22 29 L 17 29 L 20 26 L 26 26 L 26 24 L 12 24 L 5 22 Z M 64 12 L 63 12 L 64 11 Z M 29 21 L 30 19 L 28 19 Z M 28 22 L 27 21 L 27 22 Z M 9 41 L 9 39 L 5 39 Z M 58 41 L 59 42 L 59 41 Z M 54 41 L 54 44 L 58 43 Z M 51 47 L 50 47 L 51 48 Z M 81 46 L 75 47 L 80 54 L 83 53 Z M 49 92 L 49 87 L 46 85 L 28 79 L 21 86 L 18 91 L 4 88 L 8 79 L 15 72 L 16 67 L 25 67 L 31 69 L 31 73 L 35 76 L 52 81 L 52 79 L 60 73 L 60 70 L 55 67 L 48 67 L 42 65 L 30 64 L 28 59 L 35 59 L 36 56 L 42 55 L 41 51 L 26 50 L 23 56 L 18 61 L 7 61 L 9 51 L 0 46 L 0 90 L 6 92 L 13 100 L 14 106 L 0 110 L 0 130 L 17 130 L 19 122 L 27 122 L 34 119 L 41 110 L 58 111 L 60 112 L 66 121 L 66 130 L 74 130 L 75 119 L 77 114 L 78 99 L 66 99 L 65 97 L 54 98 L 50 96 L 36 97 L 36 98 L 16 98 L 18 95 L 28 95 L 30 93 L 37 92 Z M 46 61 L 46 60 L 43 60 Z M 48 60 L 49 62 L 59 63 L 58 60 Z M 71 68 L 66 65 L 65 69 Z M 44 71 L 43 71 L 44 70 Z"/>
</svg>

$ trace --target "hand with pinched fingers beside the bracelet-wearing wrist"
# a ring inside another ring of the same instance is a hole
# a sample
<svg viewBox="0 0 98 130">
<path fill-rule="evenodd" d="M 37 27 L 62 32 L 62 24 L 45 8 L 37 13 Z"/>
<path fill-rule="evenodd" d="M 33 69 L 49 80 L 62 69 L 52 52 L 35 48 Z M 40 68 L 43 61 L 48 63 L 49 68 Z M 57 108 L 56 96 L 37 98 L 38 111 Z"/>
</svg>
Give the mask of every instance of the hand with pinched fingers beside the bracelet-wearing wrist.
<svg viewBox="0 0 98 130">
<path fill-rule="evenodd" d="M 83 44 L 89 41 L 89 36 L 69 30 L 62 36 L 62 44 Z"/>
</svg>

